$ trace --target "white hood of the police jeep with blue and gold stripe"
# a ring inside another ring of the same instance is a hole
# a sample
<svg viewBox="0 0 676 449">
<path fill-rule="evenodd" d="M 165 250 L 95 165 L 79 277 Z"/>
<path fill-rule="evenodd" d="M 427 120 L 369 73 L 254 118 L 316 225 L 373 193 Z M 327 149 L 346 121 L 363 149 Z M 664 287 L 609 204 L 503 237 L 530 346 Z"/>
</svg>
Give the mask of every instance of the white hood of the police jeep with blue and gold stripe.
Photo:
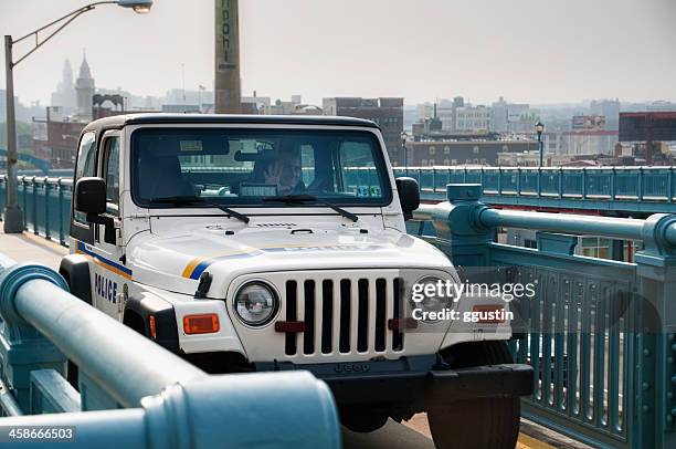
<svg viewBox="0 0 676 449">
<path fill-rule="evenodd" d="M 212 276 L 209 296 L 223 297 L 239 275 L 272 271 L 341 269 L 451 270 L 448 259 L 423 240 L 395 230 L 359 228 L 220 228 L 147 234 L 127 257 L 140 283 L 193 294 L 200 275 Z"/>
</svg>

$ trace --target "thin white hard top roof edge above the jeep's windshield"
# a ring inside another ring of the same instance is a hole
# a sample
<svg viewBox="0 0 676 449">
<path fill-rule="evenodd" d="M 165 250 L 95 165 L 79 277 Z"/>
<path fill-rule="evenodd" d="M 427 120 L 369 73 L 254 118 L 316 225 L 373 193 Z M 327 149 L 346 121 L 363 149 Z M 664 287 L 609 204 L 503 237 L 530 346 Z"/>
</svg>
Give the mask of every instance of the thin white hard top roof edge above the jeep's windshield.
<svg viewBox="0 0 676 449">
<path fill-rule="evenodd" d="M 263 124 L 263 125 L 327 125 L 327 126 L 366 126 L 378 128 L 371 121 L 352 117 L 334 117 L 321 115 L 231 115 L 231 114 L 166 114 L 145 113 L 114 115 L 99 118 L 85 127 L 87 130 L 122 128 L 137 124 Z"/>
</svg>

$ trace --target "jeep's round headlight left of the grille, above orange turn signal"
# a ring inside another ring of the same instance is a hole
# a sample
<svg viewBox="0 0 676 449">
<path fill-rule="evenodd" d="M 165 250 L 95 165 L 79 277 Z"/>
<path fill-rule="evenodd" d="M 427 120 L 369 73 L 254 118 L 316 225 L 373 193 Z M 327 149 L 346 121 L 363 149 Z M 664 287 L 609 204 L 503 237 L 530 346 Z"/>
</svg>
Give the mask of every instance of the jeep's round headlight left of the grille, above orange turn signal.
<svg viewBox="0 0 676 449">
<path fill-rule="evenodd" d="M 237 290 L 234 309 L 242 323 L 262 326 L 275 316 L 279 301 L 274 290 L 258 281 L 249 282 Z"/>
</svg>

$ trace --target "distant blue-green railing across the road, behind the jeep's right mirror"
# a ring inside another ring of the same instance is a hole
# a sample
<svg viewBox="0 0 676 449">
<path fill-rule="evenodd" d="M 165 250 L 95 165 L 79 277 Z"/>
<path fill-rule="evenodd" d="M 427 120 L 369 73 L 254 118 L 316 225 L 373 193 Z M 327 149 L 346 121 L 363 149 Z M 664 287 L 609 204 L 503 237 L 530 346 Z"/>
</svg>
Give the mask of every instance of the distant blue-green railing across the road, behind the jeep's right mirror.
<svg viewBox="0 0 676 449">
<path fill-rule="evenodd" d="M 394 167 L 425 199 L 445 199 L 446 184 L 480 184 L 490 203 L 676 212 L 674 167 Z"/>
</svg>

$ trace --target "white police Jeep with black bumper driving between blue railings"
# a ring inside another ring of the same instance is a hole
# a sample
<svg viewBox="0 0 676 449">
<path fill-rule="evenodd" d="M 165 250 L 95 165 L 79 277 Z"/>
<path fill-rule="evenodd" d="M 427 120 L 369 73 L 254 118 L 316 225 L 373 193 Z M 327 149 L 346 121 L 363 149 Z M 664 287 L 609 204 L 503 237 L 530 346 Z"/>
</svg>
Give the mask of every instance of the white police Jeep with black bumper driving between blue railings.
<svg viewBox="0 0 676 449">
<path fill-rule="evenodd" d="M 437 447 L 514 447 L 532 372 L 511 364 L 508 323 L 405 312 L 411 285 L 460 278 L 406 233 L 418 184 L 393 178 L 384 148 L 374 123 L 345 117 L 95 121 L 60 272 L 209 373 L 311 372 L 352 430 L 427 411 Z"/>
</svg>

